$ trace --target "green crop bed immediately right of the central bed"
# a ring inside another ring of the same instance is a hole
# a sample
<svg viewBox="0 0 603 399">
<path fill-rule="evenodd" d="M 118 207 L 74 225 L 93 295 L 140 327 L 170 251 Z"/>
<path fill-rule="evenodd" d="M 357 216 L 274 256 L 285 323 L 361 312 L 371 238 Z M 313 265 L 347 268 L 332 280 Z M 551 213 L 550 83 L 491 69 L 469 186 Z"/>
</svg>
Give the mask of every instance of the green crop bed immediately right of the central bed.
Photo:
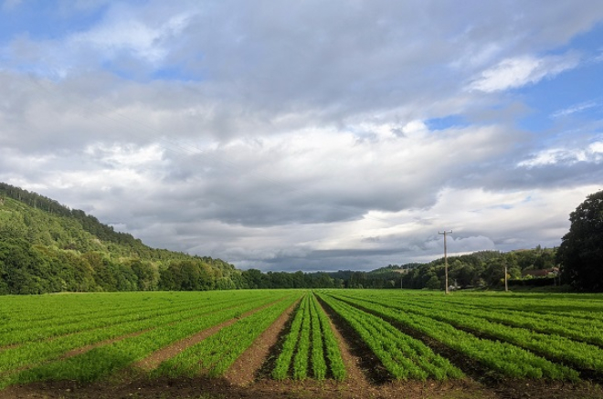
<svg viewBox="0 0 603 399">
<path fill-rule="evenodd" d="M 385 320 L 358 310 L 332 295 L 321 293 L 319 296 L 350 324 L 395 379 L 446 380 L 463 376 L 447 359 L 435 354 L 421 341 L 407 336 Z"/>
</svg>

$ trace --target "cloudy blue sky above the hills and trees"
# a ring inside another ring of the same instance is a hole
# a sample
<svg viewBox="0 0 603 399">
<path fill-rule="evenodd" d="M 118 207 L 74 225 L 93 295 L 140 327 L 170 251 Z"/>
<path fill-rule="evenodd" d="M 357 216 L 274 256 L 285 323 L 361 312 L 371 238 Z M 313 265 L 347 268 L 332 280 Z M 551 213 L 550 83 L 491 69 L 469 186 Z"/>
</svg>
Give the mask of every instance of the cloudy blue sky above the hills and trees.
<svg viewBox="0 0 603 399">
<path fill-rule="evenodd" d="M 600 0 L 0 0 L 0 181 L 263 271 L 555 247 Z"/>
</svg>

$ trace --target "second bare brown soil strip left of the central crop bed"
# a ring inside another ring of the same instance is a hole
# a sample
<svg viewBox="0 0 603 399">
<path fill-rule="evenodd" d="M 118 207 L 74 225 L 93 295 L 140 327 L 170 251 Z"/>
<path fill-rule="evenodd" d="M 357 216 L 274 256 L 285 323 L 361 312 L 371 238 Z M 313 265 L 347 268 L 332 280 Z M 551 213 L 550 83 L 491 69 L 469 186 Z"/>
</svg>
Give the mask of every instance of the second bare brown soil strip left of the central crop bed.
<svg viewBox="0 0 603 399">
<path fill-rule="evenodd" d="M 280 300 L 282 300 L 282 299 L 280 299 Z M 276 302 L 278 302 L 278 301 L 276 301 Z M 276 302 L 270 302 L 269 304 L 260 306 L 259 308 L 256 308 L 254 310 L 249 310 L 248 312 L 243 313 L 240 318 L 241 319 L 246 318 L 246 317 L 252 315 L 253 313 L 258 312 L 259 310 L 264 310 L 264 309 L 272 306 Z M 205 340 L 207 337 L 214 335 L 215 333 L 217 333 L 217 331 L 220 331 L 223 328 L 236 323 L 237 320 L 238 319 L 230 319 L 230 320 L 224 321 L 220 324 L 217 324 L 213 327 L 210 327 L 204 331 L 199 331 L 195 335 L 191 335 L 190 337 L 187 337 L 184 340 L 174 342 L 173 344 L 168 345 L 168 346 L 160 349 L 159 351 L 153 352 L 150 356 L 146 357 L 142 361 L 135 362 L 132 365 L 135 368 L 150 372 L 150 371 L 156 369 L 159 366 L 159 364 L 161 364 L 162 362 L 164 362 L 168 359 L 172 359 L 178 353 L 183 352 L 186 348 L 193 346 L 196 343 Z"/>
</svg>

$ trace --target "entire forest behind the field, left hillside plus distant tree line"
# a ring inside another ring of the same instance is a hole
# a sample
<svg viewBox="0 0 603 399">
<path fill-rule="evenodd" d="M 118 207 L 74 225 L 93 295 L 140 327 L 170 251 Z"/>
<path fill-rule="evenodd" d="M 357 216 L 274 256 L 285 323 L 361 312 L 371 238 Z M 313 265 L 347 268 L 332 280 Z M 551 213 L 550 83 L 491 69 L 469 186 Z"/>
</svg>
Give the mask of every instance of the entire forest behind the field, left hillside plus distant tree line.
<svg viewBox="0 0 603 399">
<path fill-rule="evenodd" d="M 555 248 L 449 257 L 455 288 L 550 285 Z M 143 244 L 92 215 L 43 195 L 0 183 L 0 294 L 211 289 L 443 289 L 444 259 L 389 265 L 373 271 L 304 273 L 239 270 L 221 259 L 191 256 Z"/>
</svg>

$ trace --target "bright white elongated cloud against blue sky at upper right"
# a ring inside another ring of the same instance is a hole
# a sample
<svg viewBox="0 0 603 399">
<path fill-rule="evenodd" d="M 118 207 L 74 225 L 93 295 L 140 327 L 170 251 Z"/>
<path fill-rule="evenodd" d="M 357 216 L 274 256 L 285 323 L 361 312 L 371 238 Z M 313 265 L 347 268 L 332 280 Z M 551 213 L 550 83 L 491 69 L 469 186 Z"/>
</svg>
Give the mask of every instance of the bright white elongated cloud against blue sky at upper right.
<svg viewBox="0 0 603 399">
<path fill-rule="evenodd" d="M 578 62 L 579 58 L 573 54 L 562 57 L 506 58 L 496 66 L 481 72 L 480 77 L 471 81 L 469 89 L 485 92 L 516 89 L 534 84 L 541 79 L 554 77 L 566 69 L 576 68 Z"/>
</svg>

